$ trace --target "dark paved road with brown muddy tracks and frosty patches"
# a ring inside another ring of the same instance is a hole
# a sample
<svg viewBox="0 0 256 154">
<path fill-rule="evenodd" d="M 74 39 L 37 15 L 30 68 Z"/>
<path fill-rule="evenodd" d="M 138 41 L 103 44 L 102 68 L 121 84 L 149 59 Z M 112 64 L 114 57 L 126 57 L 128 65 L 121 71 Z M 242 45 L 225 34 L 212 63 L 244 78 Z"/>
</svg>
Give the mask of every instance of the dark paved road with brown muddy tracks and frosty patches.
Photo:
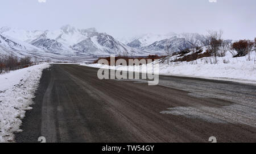
<svg viewBox="0 0 256 154">
<path fill-rule="evenodd" d="M 98 80 L 96 68 L 53 64 L 45 69 L 15 141 L 256 141 L 256 86 L 160 76 Z"/>
</svg>

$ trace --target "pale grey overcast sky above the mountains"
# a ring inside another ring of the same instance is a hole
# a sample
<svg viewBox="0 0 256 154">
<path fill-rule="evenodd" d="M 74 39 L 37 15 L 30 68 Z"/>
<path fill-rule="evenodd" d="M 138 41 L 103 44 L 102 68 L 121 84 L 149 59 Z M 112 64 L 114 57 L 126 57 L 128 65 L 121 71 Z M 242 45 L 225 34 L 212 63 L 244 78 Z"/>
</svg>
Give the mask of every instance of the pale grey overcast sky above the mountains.
<svg viewBox="0 0 256 154">
<path fill-rule="evenodd" d="M 71 24 L 118 38 L 221 29 L 226 39 L 256 37 L 255 0 L 2 0 L 0 6 L 0 27 L 56 30 Z"/>
</svg>

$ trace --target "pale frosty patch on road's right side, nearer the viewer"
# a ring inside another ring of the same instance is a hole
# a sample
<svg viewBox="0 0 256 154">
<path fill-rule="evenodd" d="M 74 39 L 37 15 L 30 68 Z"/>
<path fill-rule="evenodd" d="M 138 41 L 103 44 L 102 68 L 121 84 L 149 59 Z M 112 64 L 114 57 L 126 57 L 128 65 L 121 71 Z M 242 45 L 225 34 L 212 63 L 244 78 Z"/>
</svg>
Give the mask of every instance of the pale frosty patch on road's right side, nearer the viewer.
<svg viewBox="0 0 256 154">
<path fill-rule="evenodd" d="M 213 123 L 240 123 L 256 127 L 255 102 L 240 102 L 224 107 L 173 107 L 161 114 L 183 115 Z"/>
</svg>

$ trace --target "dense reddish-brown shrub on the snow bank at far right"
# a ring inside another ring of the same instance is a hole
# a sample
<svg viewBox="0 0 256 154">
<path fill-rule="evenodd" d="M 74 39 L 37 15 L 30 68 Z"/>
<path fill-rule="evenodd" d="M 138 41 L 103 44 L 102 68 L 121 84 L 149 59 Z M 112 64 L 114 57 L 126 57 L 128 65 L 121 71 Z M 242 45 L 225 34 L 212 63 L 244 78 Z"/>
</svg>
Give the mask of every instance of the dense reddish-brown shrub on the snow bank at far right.
<svg viewBox="0 0 256 154">
<path fill-rule="evenodd" d="M 237 51 L 237 55 L 234 57 L 241 57 L 247 54 L 250 55 L 251 49 L 253 49 L 254 43 L 250 40 L 240 40 L 232 44 L 232 49 Z"/>
</svg>

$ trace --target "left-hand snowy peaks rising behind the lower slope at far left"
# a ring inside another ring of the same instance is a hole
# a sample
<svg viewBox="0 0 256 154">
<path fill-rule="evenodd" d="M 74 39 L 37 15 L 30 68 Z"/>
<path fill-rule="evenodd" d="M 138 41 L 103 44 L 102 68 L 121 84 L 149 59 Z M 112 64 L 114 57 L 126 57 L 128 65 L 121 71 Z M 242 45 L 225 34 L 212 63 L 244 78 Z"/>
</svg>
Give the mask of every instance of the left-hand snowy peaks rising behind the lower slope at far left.
<svg viewBox="0 0 256 154">
<path fill-rule="evenodd" d="M 35 32 L 35 33 L 33 33 Z M 15 36 L 43 51 L 51 53 L 67 53 L 68 55 L 109 55 L 143 53 L 132 49 L 115 40 L 106 33 L 97 32 L 95 28 L 78 29 L 72 26 L 63 26 L 56 31 L 23 31 L 11 28 L 1 28 L 0 34 Z"/>
</svg>

